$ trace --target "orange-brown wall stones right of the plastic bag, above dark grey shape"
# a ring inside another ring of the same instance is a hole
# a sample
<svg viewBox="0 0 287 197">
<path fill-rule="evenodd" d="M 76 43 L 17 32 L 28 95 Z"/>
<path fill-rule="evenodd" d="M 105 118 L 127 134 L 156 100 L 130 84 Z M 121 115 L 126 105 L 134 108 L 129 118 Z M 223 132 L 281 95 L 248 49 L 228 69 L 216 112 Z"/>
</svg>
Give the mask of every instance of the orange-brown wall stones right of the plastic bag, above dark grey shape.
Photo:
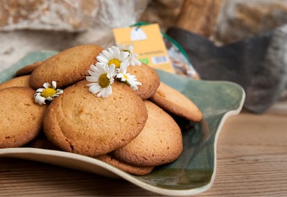
<svg viewBox="0 0 287 197">
<path fill-rule="evenodd" d="M 182 10 L 187 12 L 184 17 Z M 157 22 L 164 31 L 177 26 L 229 44 L 287 24 L 287 1 L 153 0 L 140 20 Z"/>
</svg>

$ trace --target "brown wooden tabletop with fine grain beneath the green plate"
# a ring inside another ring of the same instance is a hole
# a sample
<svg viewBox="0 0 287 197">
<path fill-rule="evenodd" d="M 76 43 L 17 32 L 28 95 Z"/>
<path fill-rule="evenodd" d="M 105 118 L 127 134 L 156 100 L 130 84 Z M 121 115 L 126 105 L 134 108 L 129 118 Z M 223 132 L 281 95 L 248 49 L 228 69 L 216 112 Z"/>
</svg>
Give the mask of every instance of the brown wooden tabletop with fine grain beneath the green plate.
<svg viewBox="0 0 287 197">
<path fill-rule="evenodd" d="M 287 114 L 242 112 L 218 139 L 216 180 L 198 196 L 287 196 Z M 0 158 L 0 196 L 158 196 L 125 180 Z"/>
</svg>

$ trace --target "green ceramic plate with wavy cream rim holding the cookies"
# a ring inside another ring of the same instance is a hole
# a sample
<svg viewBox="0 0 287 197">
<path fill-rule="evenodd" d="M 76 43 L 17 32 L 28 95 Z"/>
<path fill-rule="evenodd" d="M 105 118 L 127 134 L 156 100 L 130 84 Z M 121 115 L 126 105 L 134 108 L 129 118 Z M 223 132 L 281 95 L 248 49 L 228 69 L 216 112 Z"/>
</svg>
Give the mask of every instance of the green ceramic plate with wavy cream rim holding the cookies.
<svg viewBox="0 0 287 197">
<path fill-rule="evenodd" d="M 0 73 L 0 83 L 24 65 L 44 60 L 55 51 L 37 51 L 19 60 Z M 238 114 L 245 92 L 235 83 L 192 80 L 158 71 L 161 80 L 188 96 L 202 111 L 200 123 L 182 121 L 184 151 L 173 163 L 158 166 L 143 176 L 130 175 L 92 157 L 40 148 L 2 148 L 0 156 L 46 162 L 82 171 L 118 177 L 157 194 L 184 196 L 199 194 L 211 187 L 216 175 L 216 143 L 223 123 L 230 115 Z"/>
</svg>

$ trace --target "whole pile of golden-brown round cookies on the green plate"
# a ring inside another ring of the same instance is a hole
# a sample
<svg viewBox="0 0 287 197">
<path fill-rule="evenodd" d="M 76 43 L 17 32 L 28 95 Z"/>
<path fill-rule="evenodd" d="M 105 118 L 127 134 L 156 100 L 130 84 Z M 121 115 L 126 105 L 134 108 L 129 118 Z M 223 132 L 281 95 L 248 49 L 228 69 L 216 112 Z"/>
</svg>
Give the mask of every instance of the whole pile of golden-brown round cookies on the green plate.
<svg viewBox="0 0 287 197">
<path fill-rule="evenodd" d="M 200 121 L 200 110 L 143 63 L 127 67 L 140 82 L 137 88 L 114 80 L 109 96 L 92 94 L 87 76 L 103 50 L 75 46 L 0 84 L 0 148 L 47 148 L 49 142 L 48 148 L 95 157 L 135 175 L 175 161 L 183 149 L 182 132 L 171 115 Z M 54 91 L 53 101 L 36 99 L 43 85 Z"/>
</svg>

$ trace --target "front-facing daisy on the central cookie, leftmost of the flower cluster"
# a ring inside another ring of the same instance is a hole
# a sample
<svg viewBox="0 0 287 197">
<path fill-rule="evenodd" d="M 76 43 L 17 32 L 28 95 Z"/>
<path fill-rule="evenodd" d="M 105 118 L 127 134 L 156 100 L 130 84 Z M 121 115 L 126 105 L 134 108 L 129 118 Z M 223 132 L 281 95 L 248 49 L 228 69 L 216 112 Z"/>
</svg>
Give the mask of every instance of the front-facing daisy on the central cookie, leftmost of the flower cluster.
<svg viewBox="0 0 287 197">
<path fill-rule="evenodd" d="M 86 79 L 89 82 L 89 92 L 97 94 L 98 97 L 102 96 L 103 98 L 112 94 L 112 83 L 114 83 L 114 77 L 116 76 L 115 65 L 112 64 L 110 67 L 105 64 L 96 63 L 91 65 L 91 70 L 89 70 L 89 75 L 86 76 Z"/>
</svg>

